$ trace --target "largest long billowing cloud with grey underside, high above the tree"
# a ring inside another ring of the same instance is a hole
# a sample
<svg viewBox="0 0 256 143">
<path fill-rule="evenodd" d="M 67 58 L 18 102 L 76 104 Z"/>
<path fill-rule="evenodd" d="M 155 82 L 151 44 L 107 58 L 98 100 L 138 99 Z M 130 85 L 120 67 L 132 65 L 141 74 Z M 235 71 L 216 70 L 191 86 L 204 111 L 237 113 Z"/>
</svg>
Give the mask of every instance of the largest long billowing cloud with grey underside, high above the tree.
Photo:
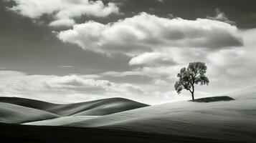
<svg viewBox="0 0 256 143">
<path fill-rule="evenodd" d="M 88 21 L 60 31 L 57 37 L 82 49 L 129 56 L 156 49 L 242 46 L 237 27 L 210 19 L 166 19 L 142 12 L 109 24 Z"/>
</svg>

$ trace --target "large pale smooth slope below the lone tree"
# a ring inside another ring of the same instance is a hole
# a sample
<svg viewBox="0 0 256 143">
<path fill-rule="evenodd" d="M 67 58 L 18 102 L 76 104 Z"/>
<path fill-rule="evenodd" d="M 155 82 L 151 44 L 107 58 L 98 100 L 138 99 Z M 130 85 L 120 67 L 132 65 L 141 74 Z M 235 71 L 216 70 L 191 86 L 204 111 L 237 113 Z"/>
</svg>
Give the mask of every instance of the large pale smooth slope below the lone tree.
<svg viewBox="0 0 256 143">
<path fill-rule="evenodd" d="M 173 102 L 64 125 L 255 142 L 256 88 L 226 95 L 235 100 Z"/>
</svg>

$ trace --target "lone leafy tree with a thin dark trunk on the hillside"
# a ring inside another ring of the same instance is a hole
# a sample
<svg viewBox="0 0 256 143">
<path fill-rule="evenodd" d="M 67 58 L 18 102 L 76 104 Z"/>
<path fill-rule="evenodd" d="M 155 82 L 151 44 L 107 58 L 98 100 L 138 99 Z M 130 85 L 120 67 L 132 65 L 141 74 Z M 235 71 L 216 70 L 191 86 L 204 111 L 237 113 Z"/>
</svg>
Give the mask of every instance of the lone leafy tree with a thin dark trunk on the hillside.
<svg viewBox="0 0 256 143">
<path fill-rule="evenodd" d="M 205 75 L 207 72 L 207 66 L 204 62 L 191 62 L 188 67 L 181 69 L 177 77 L 177 81 L 174 85 L 176 92 L 181 93 L 183 89 L 189 90 L 192 94 L 192 99 L 194 100 L 194 86 L 195 84 L 209 84 L 209 79 Z"/>
</svg>

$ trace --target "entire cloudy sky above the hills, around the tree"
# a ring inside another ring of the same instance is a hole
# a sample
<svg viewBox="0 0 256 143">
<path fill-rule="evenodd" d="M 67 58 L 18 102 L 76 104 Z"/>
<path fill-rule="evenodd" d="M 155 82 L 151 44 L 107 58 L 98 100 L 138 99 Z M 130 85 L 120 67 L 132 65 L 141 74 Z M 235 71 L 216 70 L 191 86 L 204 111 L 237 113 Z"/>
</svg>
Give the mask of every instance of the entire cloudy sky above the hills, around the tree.
<svg viewBox="0 0 256 143">
<path fill-rule="evenodd" d="M 177 94 L 179 70 L 207 65 L 195 98 L 256 84 L 256 1 L 0 1 L 0 96 L 54 103 Z"/>
</svg>

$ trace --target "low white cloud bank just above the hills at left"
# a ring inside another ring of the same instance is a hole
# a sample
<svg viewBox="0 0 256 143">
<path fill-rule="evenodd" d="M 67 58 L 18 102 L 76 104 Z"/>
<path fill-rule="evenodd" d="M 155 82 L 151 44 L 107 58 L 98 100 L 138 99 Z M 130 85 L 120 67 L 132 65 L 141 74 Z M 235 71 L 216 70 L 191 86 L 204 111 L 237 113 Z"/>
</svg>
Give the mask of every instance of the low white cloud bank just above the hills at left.
<svg viewBox="0 0 256 143">
<path fill-rule="evenodd" d="M 91 99 L 124 97 L 134 99 L 143 96 L 138 86 L 115 83 L 87 75 L 27 75 L 19 71 L 0 71 L 9 81 L 1 82 L 0 95 L 47 100 L 49 102 L 85 102 Z M 15 78 L 19 77 L 19 78 Z M 7 79 L 0 77 L 0 80 Z M 72 97 L 72 95 L 74 95 Z M 79 98 L 79 99 L 77 99 Z M 80 101 L 79 101 L 80 100 Z"/>
</svg>

